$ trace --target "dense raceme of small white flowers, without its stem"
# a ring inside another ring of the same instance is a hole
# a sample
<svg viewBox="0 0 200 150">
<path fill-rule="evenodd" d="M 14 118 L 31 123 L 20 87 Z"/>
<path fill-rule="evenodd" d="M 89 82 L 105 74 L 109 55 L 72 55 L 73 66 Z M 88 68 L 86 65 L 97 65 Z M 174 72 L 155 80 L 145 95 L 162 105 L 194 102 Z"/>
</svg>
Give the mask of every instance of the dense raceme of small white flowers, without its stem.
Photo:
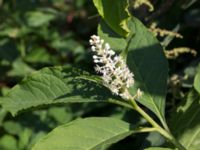
<svg viewBox="0 0 200 150">
<path fill-rule="evenodd" d="M 93 55 L 96 63 L 96 72 L 102 74 L 104 85 L 114 94 L 124 99 L 131 99 L 128 88 L 134 84 L 134 75 L 130 72 L 125 61 L 121 56 L 115 55 L 108 43 L 99 36 L 93 35 L 89 40 L 91 49 L 96 55 Z M 140 89 L 137 91 L 137 97 L 141 96 Z"/>
</svg>

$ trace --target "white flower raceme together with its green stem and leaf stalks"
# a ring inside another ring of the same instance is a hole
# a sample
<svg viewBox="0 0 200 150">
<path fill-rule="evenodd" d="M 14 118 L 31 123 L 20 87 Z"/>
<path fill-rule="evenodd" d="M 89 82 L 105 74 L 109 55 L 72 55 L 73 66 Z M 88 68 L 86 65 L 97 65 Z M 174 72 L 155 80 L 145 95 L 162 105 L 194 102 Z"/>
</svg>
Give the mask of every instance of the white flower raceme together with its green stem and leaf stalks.
<svg viewBox="0 0 200 150">
<path fill-rule="evenodd" d="M 102 75 L 104 86 L 109 88 L 113 94 L 121 96 L 129 103 L 122 101 L 109 102 L 129 108 L 131 107 L 152 125 L 152 128 L 145 128 L 144 130 L 140 128 L 138 132 L 157 131 L 167 140 L 173 143 L 179 150 L 186 150 L 172 136 L 165 122 L 162 122 L 164 128 L 161 127 L 136 103 L 135 99 L 139 99 L 142 96 L 142 91 L 138 89 L 136 95 L 134 96 L 129 93 L 128 88 L 134 85 L 134 75 L 127 67 L 123 58 L 121 56 L 115 55 L 115 52 L 110 48 L 110 45 L 108 43 L 104 43 L 104 40 L 100 39 L 99 36 L 91 36 L 89 42 L 92 51 L 95 53 L 95 55 L 93 55 L 94 63 L 96 63 L 95 70 L 97 73 Z"/>
</svg>

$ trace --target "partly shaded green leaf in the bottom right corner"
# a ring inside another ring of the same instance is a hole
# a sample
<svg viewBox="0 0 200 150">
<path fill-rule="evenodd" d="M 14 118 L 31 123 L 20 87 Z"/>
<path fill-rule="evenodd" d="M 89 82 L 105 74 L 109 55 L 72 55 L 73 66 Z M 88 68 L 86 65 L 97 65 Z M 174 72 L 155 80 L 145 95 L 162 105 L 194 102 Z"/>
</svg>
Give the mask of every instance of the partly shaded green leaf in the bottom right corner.
<svg viewBox="0 0 200 150">
<path fill-rule="evenodd" d="M 200 97 L 196 91 L 188 94 L 186 102 L 173 113 L 172 133 L 188 150 L 200 147 Z"/>
</svg>

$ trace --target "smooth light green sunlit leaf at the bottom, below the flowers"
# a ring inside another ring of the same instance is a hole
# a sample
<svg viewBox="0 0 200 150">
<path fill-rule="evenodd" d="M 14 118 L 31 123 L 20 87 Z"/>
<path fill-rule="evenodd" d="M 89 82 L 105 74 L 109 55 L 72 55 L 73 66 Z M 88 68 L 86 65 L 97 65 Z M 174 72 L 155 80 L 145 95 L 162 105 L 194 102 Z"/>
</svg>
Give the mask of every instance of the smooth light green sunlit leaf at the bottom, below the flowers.
<svg viewBox="0 0 200 150">
<path fill-rule="evenodd" d="M 78 119 L 54 129 L 33 150 L 100 150 L 132 133 L 129 123 L 115 118 Z"/>
</svg>

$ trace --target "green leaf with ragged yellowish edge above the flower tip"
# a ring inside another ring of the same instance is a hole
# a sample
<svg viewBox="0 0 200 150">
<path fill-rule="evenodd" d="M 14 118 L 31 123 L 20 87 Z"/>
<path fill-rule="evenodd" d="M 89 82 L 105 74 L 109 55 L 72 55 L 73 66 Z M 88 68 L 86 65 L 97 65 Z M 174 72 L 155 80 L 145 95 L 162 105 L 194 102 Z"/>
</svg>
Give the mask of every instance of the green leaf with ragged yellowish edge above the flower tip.
<svg viewBox="0 0 200 150">
<path fill-rule="evenodd" d="M 130 19 L 127 0 L 93 0 L 101 17 L 117 34 L 127 37 L 130 30 L 127 21 Z"/>
</svg>

